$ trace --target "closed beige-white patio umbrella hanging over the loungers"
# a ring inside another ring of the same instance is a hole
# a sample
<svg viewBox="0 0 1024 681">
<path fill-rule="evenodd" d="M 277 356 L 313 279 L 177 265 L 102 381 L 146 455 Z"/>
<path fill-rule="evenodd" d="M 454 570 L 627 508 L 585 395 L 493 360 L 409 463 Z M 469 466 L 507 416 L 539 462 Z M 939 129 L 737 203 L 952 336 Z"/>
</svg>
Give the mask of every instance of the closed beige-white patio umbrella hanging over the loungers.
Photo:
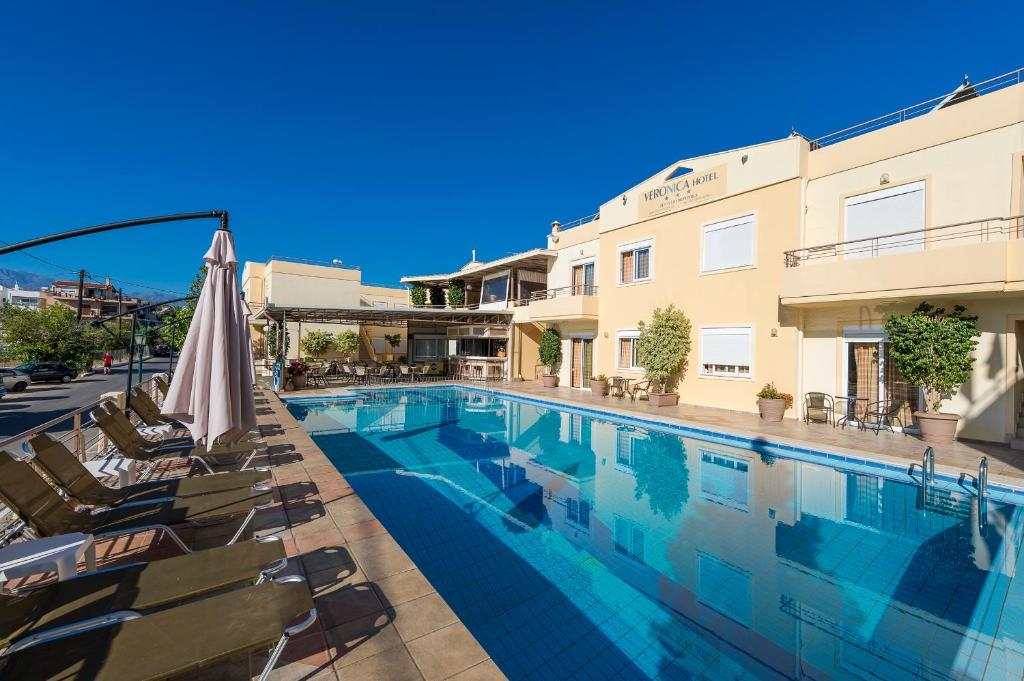
<svg viewBox="0 0 1024 681">
<path fill-rule="evenodd" d="M 162 411 L 209 451 L 218 437 L 234 443 L 248 433 L 256 425 L 256 405 L 231 232 L 218 229 L 203 258 L 206 281 Z"/>
</svg>

